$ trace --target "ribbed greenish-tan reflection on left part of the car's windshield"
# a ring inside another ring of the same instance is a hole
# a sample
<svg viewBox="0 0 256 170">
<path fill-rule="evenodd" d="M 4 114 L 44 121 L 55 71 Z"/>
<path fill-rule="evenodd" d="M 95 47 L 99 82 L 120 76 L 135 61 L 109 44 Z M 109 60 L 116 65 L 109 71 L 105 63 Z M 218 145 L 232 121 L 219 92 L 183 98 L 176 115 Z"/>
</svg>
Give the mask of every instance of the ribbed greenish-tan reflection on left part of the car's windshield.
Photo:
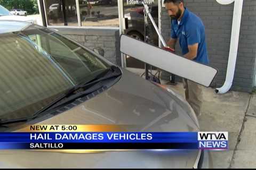
<svg viewBox="0 0 256 170">
<path fill-rule="evenodd" d="M 0 59 L 0 86 L 3 91 L 0 115 L 17 114 L 19 111 L 19 117 L 22 117 L 25 112 L 29 113 L 24 107 L 42 107 L 50 100 L 49 97 L 71 87 L 60 70 L 55 69 L 50 60 L 42 57 L 22 37 L 1 37 L 0 41 L 0 49 L 5 51 Z"/>
</svg>

